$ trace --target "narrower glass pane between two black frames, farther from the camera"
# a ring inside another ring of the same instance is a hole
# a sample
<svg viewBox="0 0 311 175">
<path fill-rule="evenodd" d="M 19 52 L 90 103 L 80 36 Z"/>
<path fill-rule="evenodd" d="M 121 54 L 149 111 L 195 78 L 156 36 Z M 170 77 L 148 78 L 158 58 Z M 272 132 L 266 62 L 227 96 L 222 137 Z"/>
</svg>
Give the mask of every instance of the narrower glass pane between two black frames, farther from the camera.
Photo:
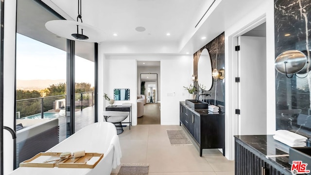
<svg viewBox="0 0 311 175">
<path fill-rule="evenodd" d="M 75 41 L 75 132 L 94 123 L 94 43 Z"/>
</svg>

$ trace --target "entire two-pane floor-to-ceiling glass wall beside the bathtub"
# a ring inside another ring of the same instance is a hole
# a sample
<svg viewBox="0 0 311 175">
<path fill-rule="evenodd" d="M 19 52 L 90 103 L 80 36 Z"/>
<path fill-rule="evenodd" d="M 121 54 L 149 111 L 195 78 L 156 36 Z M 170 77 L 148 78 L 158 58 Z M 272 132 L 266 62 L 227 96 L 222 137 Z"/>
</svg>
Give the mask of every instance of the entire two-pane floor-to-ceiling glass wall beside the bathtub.
<svg viewBox="0 0 311 175">
<path fill-rule="evenodd" d="M 94 43 L 52 34 L 45 23 L 55 19 L 62 17 L 40 0 L 17 0 L 17 167 L 95 121 Z"/>
</svg>

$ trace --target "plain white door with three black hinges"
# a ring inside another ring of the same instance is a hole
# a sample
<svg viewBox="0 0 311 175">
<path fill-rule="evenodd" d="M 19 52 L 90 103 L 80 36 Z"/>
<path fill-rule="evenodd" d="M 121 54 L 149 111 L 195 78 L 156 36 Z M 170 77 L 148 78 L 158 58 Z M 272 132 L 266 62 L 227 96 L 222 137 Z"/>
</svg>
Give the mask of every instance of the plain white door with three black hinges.
<svg viewBox="0 0 311 175">
<path fill-rule="evenodd" d="M 240 36 L 239 135 L 266 134 L 266 38 Z"/>
</svg>

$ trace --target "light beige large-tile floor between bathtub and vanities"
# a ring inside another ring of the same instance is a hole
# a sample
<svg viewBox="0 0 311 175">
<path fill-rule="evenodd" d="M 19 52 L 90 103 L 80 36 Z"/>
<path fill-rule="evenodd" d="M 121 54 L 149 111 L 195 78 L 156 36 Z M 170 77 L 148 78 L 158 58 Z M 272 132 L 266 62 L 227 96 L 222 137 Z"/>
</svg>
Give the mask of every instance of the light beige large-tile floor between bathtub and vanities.
<svg viewBox="0 0 311 175">
<path fill-rule="evenodd" d="M 174 129 L 183 127 L 159 124 L 137 125 L 131 130 L 125 127 L 119 135 L 121 163 L 148 163 L 149 175 L 234 175 L 234 161 L 227 160 L 218 149 L 205 149 L 200 157 L 194 145 L 171 146 L 166 130 Z M 120 166 L 112 169 L 111 175 L 117 175 L 119 169 Z"/>
</svg>

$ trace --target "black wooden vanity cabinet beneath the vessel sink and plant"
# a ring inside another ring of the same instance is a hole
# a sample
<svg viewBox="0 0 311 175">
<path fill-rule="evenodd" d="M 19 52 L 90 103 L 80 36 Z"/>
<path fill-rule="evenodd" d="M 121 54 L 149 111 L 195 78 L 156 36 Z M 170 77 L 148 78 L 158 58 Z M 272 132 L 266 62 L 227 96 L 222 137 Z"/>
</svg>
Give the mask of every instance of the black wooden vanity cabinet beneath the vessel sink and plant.
<svg viewBox="0 0 311 175">
<path fill-rule="evenodd" d="M 200 148 L 222 148 L 225 156 L 225 114 L 199 114 L 180 103 L 180 125 L 183 124 Z"/>
</svg>

